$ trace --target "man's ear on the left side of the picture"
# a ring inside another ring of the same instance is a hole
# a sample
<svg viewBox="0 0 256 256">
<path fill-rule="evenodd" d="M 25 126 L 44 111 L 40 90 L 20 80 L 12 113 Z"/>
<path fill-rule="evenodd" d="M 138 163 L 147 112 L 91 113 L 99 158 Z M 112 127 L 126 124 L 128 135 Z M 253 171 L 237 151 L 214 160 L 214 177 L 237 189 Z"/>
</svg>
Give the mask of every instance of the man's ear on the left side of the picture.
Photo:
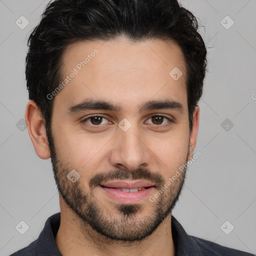
<svg viewBox="0 0 256 256">
<path fill-rule="evenodd" d="M 33 100 L 28 101 L 26 105 L 25 121 L 35 153 L 42 159 L 48 159 L 50 157 L 50 150 L 44 120 Z"/>
</svg>

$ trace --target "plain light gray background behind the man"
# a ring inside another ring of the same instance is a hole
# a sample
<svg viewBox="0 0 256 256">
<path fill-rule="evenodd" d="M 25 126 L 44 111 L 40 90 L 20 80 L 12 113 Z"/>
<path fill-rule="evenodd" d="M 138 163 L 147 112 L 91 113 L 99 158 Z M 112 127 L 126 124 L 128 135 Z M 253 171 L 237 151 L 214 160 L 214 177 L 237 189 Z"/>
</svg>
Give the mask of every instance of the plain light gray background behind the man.
<svg viewBox="0 0 256 256">
<path fill-rule="evenodd" d="M 50 159 L 37 157 L 22 131 L 26 40 L 47 2 L 0 0 L 0 256 L 36 239 L 59 211 Z M 204 25 L 209 72 L 199 101 L 201 156 L 188 169 L 173 215 L 188 234 L 256 253 L 256 1 L 180 3 Z M 21 15 L 29 21 L 24 29 L 15 24 Z M 29 226 L 23 235 L 15 229 L 21 220 Z M 229 234 L 220 228 L 226 220 L 234 226 Z"/>
</svg>

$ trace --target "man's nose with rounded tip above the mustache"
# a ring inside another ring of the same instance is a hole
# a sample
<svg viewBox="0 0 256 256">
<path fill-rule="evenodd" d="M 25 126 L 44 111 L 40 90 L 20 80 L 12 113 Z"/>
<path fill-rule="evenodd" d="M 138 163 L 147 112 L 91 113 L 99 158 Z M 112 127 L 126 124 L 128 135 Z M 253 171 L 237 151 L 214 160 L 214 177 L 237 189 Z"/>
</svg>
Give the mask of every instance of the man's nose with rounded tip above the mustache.
<svg viewBox="0 0 256 256">
<path fill-rule="evenodd" d="M 138 131 L 135 125 L 123 131 L 118 128 L 112 141 L 110 164 L 127 170 L 135 170 L 139 166 L 149 164 L 150 149 L 143 131 Z"/>
</svg>

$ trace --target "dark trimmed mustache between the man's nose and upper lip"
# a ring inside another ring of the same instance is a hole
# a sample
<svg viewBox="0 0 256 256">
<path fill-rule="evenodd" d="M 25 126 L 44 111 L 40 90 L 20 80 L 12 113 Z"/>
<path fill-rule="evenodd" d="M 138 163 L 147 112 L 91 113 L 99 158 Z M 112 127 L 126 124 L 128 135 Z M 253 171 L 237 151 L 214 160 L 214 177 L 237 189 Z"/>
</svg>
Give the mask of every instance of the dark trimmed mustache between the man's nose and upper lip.
<svg viewBox="0 0 256 256">
<path fill-rule="evenodd" d="M 110 180 L 122 180 L 122 179 L 142 179 L 145 181 L 151 181 L 155 183 L 156 187 L 161 187 L 164 184 L 164 178 L 161 174 L 152 172 L 147 168 L 138 167 L 135 170 L 128 171 L 125 169 L 110 170 L 108 172 L 96 173 L 89 181 L 89 187 L 94 188 L 100 182 L 106 182 Z"/>
</svg>

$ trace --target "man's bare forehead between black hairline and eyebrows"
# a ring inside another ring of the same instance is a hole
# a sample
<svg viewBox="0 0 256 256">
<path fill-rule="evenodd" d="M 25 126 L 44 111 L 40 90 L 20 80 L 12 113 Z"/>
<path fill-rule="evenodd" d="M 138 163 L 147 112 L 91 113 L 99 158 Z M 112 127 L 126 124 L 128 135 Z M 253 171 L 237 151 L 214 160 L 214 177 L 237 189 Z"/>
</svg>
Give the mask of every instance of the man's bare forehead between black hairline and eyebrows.
<svg viewBox="0 0 256 256">
<path fill-rule="evenodd" d="M 67 104 L 104 98 L 131 106 L 159 97 L 186 104 L 184 56 L 172 41 L 80 41 L 69 45 L 61 60 L 62 81 L 66 76 L 69 80 L 56 99 Z M 176 74 L 182 75 L 175 79 Z"/>
</svg>

